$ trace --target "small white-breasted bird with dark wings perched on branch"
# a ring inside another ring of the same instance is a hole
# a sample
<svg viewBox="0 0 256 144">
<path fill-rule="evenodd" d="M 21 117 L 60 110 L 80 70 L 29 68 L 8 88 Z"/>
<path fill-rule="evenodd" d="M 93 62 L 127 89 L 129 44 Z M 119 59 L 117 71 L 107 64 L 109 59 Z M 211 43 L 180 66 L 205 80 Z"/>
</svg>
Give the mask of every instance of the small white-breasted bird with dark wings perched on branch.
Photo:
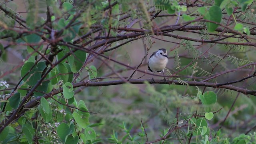
<svg viewBox="0 0 256 144">
<path fill-rule="evenodd" d="M 154 72 L 154 74 L 155 72 L 162 72 L 164 75 L 164 68 L 168 63 L 168 56 L 166 54 L 167 52 L 165 48 L 160 48 L 158 51 L 153 52 L 150 58 L 148 59 L 148 71 Z M 152 76 L 152 83 L 154 83 L 154 74 Z M 166 82 L 165 77 L 164 82 Z"/>
</svg>

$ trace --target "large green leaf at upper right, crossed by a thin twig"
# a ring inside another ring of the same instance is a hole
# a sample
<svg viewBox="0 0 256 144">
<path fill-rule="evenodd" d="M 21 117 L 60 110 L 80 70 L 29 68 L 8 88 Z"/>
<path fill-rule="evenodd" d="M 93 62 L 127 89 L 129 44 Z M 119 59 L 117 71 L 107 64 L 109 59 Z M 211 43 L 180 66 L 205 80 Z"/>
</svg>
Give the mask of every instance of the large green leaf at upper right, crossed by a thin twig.
<svg viewBox="0 0 256 144">
<path fill-rule="evenodd" d="M 220 23 L 222 19 L 222 12 L 220 7 L 211 6 L 204 16 L 204 19 Z M 216 28 L 218 28 L 218 24 L 214 24 L 212 22 L 206 22 L 206 26 L 209 32 L 214 32 Z"/>
</svg>

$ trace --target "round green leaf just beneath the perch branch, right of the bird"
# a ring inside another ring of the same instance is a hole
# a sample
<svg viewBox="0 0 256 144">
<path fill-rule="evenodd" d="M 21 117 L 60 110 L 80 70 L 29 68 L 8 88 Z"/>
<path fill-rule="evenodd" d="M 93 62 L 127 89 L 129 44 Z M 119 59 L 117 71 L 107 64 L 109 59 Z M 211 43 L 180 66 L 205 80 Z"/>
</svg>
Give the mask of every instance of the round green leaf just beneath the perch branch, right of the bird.
<svg viewBox="0 0 256 144">
<path fill-rule="evenodd" d="M 217 101 L 217 95 L 212 91 L 208 91 L 208 92 L 205 92 L 204 94 L 200 94 L 199 97 L 203 105 L 215 104 Z"/>
</svg>

